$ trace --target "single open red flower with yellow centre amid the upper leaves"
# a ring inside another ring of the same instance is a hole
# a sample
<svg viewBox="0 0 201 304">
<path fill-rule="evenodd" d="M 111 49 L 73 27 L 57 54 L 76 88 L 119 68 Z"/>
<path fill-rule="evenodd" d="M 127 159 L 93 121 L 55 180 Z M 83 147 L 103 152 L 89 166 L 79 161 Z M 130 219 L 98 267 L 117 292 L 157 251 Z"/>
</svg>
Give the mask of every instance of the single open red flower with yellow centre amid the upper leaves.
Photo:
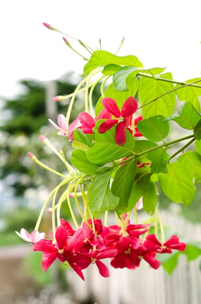
<svg viewBox="0 0 201 304">
<path fill-rule="evenodd" d="M 116 119 L 109 119 L 103 122 L 99 128 L 99 133 L 105 133 L 116 125 L 115 141 L 118 145 L 123 145 L 126 142 L 126 131 L 125 128 L 130 126 L 130 121 L 133 113 L 138 108 L 137 100 L 130 96 L 123 104 L 122 110 L 120 111 L 116 101 L 112 98 L 105 97 L 102 99 L 104 108 L 111 113 Z"/>
</svg>

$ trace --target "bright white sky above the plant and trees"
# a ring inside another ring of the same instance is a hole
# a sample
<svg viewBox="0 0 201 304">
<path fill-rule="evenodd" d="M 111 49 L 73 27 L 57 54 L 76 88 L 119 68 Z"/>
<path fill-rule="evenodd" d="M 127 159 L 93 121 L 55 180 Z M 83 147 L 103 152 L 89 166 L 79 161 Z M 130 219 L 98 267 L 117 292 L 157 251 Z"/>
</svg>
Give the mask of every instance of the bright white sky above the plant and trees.
<svg viewBox="0 0 201 304">
<path fill-rule="evenodd" d="M 133 54 L 145 68 L 168 66 L 177 81 L 200 76 L 200 0 L 6 0 L 1 1 L 0 95 L 12 96 L 22 78 L 56 79 L 86 63 L 63 42 L 48 22 L 92 48 L 119 56 Z M 78 43 L 73 47 L 85 56 Z M 90 55 L 90 54 L 89 54 Z"/>
</svg>

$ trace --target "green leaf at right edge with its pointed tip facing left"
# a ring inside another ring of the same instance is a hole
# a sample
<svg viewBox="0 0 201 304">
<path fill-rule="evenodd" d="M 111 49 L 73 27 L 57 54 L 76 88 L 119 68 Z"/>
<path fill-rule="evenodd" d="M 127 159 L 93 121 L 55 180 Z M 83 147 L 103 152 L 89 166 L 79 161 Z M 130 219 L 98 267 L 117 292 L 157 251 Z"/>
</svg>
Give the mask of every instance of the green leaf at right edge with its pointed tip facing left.
<svg viewBox="0 0 201 304">
<path fill-rule="evenodd" d="M 192 130 L 201 119 L 201 115 L 194 108 L 190 101 L 186 101 L 179 110 L 178 114 L 167 117 L 165 121 L 173 120 L 184 129 Z"/>
</svg>

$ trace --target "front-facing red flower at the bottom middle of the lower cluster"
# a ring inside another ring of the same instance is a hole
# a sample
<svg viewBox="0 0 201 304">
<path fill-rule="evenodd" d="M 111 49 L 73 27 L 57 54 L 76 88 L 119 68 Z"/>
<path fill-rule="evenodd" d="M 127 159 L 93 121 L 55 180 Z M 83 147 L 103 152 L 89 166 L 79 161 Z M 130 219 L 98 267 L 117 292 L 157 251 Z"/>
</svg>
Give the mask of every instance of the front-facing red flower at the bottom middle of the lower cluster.
<svg viewBox="0 0 201 304">
<path fill-rule="evenodd" d="M 106 265 L 100 261 L 100 259 L 114 257 L 116 253 L 116 249 L 105 250 L 102 252 L 96 249 L 90 253 L 77 253 L 74 262 L 76 263 L 76 267 L 80 270 L 87 268 L 91 263 L 96 263 L 100 275 L 107 278 L 109 277 L 109 270 Z"/>
</svg>

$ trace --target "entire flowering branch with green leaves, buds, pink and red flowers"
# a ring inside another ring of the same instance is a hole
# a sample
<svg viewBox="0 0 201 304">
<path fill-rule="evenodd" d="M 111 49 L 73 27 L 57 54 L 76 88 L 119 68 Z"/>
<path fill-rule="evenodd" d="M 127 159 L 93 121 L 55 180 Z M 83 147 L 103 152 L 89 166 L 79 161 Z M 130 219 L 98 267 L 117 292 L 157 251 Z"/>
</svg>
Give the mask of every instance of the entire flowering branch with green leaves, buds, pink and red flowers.
<svg viewBox="0 0 201 304">
<path fill-rule="evenodd" d="M 47 23 L 44 25 L 60 32 Z M 64 42 L 75 51 L 65 38 Z M 157 209 L 156 182 L 159 181 L 170 200 L 187 207 L 195 196 L 194 184 L 201 181 L 201 115 L 198 99 L 194 97 L 201 95 L 200 79 L 175 82 L 171 73 L 158 76 L 165 68 L 144 69 L 136 56 L 118 57 L 117 52 L 113 55 L 101 50 L 100 40 L 100 50 L 97 51 L 80 40 L 78 42 L 91 56 L 88 60 L 75 51 L 88 61 L 82 74 L 84 79 L 74 93 L 54 97 L 55 101 L 70 98 L 70 102 L 66 117 L 59 114 L 58 125 L 49 120 L 59 135 L 68 136 L 72 141 L 75 149 L 72 151 L 71 164 L 62 150 L 58 151 L 46 136 L 41 135 L 42 141 L 61 159 L 68 174 L 47 167 L 29 153 L 36 164 L 51 174 L 59 175 L 62 180 L 45 201 L 31 235 L 24 229 L 17 234 L 30 242 L 34 251 L 43 252 L 44 271 L 57 258 L 64 264 L 68 263 L 83 280 L 82 270 L 90 264 L 96 264 L 101 276 L 108 277 L 109 271 L 102 262 L 105 258 L 111 259 L 114 268 L 135 269 L 144 259 L 153 269 L 158 269 L 160 262 L 156 254 L 171 254 L 172 249 L 184 251 L 186 244 L 181 243 L 176 235 L 165 240 Z M 120 46 L 123 42 L 124 39 Z M 101 77 L 90 83 L 94 75 L 99 73 Z M 104 90 L 110 77 L 113 81 Z M 101 96 L 94 113 L 93 90 L 101 81 Z M 188 90 L 194 92 L 192 98 Z M 83 91 L 85 111 L 69 124 L 75 97 Z M 173 115 L 175 92 L 180 100 L 188 98 L 177 115 Z M 138 100 L 135 96 L 138 96 Z M 170 131 L 170 120 L 184 129 L 192 130 L 192 134 L 165 141 Z M 169 156 L 168 148 L 187 139 L 190 141 Z M 197 152 L 184 153 L 184 149 L 195 140 Z M 181 152 L 183 154 L 177 162 L 170 162 Z M 64 191 L 57 201 L 60 188 L 64 188 Z M 51 198 L 52 207 L 47 209 Z M 74 226 L 60 218 L 62 204 L 66 203 Z M 75 208 L 82 222 L 77 221 Z M 138 210 L 142 208 L 149 219 L 138 223 Z M 45 210 L 52 213 L 50 239 L 45 239 L 45 235 L 38 232 Z M 101 219 L 94 218 L 95 211 L 104 212 L 104 225 Z M 108 211 L 114 212 L 115 224 L 107 224 Z M 130 222 L 133 212 L 135 223 Z M 154 234 L 150 234 L 152 222 Z"/>
</svg>

